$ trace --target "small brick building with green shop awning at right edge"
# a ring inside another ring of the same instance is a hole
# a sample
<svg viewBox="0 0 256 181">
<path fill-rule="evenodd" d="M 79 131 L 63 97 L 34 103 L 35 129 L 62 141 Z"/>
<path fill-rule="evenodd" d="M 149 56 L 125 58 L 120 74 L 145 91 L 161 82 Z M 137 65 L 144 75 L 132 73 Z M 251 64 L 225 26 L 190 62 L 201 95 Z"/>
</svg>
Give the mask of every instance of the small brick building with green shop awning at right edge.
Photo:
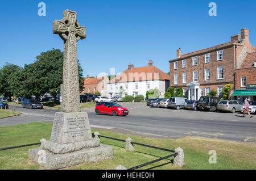
<svg viewBox="0 0 256 181">
<path fill-rule="evenodd" d="M 236 91 L 233 99 L 244 100 L 246 97 L 256 100 L 256 52 L 248 53 L 240 67 L 235 70 Z"/>
</svg>

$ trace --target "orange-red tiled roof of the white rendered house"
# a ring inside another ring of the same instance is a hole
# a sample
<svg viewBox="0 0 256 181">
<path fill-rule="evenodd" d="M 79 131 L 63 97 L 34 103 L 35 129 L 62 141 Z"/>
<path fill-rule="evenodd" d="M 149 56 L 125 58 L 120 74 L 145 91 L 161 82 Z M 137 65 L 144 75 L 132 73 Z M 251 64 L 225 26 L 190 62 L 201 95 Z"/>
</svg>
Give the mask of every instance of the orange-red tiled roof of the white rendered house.
<svg viewBox="0 0 256 181">
<path fill-rule="evenodd" d="M 131 70 L 126 69 L 121 74 L 115 77 L 115 80 L 110 81 L 110 83 L 115 82 L 133 82 L 133 81 L 150 81 L 154 79 L 159 80 L 170 80 L 168 74 L 164 73 L 162 70 L 156 68 L 156 66 L 143 66 L 140 68 L 132 68 Z"/>
</svg>

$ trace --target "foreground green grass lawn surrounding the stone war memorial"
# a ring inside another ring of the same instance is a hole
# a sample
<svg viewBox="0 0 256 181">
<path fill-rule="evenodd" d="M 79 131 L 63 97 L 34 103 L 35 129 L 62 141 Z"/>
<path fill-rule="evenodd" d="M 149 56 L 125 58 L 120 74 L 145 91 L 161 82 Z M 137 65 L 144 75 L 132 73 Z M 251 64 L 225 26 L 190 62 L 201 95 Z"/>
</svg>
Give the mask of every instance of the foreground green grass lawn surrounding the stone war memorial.
<svg viewBox="0 0 256 181">
<path fill-rule="evenodd" d="M 0 127 L 0 148 L 31 144 L 39 142 L 42 138 L 49 140 L 51 129 L 52 124 L 41 122 Z M 104 136 L 122 140 L 131 137 L 134 142 L 172 150 L 180 146 L 184 149 L 185 166 L 183 169 L 256 169 L 255 144 L 190 136 L 178 140 L 146 138 L 92 129 L 92 132 L 96 131 Z M 101 137 L 101 144 L 113 146 L 113 159 L 86 163 L 69 169 L 115 169 L 118 165 L 123 165 L 128 169 L 171 154 L 168 151 L 139 145 L 134 145 L 135 151 L 127 151 L 125 150 L 125 142 L 103 137 Z M 39 169 L 37 165 L 28 162 L 28 149 L 38 146 L 0 151 L 0 169 Z M 209 150 L 216 150 L 216 164 L 208 162 Z M 180 169 L 172 165 L 172 159 L 173 157 L 140 169 Z"/>
</svg>

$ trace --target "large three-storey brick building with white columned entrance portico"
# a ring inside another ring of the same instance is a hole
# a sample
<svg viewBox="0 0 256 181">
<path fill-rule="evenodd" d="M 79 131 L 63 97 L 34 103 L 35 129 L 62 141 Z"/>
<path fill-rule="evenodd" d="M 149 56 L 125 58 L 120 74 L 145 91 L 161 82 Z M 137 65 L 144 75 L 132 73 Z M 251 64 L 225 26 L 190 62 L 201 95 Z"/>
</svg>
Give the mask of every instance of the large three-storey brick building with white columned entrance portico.
<svg viewBox="0 0 256 181">
<path fill-rule="evenodd" d="M 234 72 L 239 68 L 248 53 L 255 52 L 249 41 L 249 30 L 244 28 L 241 35 L 231 37 L 228 43 L 181 54 L 177 49 L 177 57 L 170 60 L 170 86 L 182 87 L 188 99 L 199 99 L 209 95 L 211 90 L 221 96 L 226 84 L 233 85 Z"/>
</svg>

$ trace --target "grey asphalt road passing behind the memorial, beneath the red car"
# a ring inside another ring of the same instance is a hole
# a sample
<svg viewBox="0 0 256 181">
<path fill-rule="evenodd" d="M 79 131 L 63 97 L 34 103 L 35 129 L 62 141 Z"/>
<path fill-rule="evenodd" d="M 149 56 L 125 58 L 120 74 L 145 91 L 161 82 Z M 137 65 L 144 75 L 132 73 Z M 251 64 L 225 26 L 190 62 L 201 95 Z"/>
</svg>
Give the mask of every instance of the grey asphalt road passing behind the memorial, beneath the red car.
<svg viewBox="0 0 256 181">
<path fill-rule="evenodd" d="M 241 113 L 170 110 L 147 107 L 146 103 L 121 103 L 129 109 L 129 116 L 95 115 L 94 108 L 87 108 L 92 128 L 148 137 L 179 138 L 200 136 L 222 140 L 256 143 L 256 115 L 249 118 Z M 30 110 L 19 106 L 22 115 L 0 120 L 0 126 L 53 122 L 56 110 Z"/>
</svg>

